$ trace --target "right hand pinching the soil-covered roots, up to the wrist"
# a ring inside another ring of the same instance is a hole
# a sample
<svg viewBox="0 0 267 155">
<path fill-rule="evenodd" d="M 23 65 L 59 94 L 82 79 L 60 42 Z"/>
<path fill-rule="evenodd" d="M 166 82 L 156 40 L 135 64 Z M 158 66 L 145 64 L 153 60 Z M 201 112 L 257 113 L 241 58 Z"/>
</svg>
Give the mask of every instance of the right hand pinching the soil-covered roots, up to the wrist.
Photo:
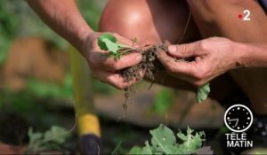
<svg viewBox="0 0 267 155">
<path fill-rule="evenodd" d="M 226 38 L 212 37 L 195 43 L 170 45 L 167 52 L 158 54 L 168 73 L 201 86 L 238 66 L 237 44 Z M 184 61 L 184 58 L 190 61 Z"/>
</svg>

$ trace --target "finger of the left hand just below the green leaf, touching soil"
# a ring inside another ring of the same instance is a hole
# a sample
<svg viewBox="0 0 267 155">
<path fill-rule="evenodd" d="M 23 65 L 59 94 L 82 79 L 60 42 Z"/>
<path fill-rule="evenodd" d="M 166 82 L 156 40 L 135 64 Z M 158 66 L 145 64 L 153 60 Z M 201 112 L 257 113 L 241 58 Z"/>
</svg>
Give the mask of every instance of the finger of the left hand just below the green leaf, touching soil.
<svg viewBox="0 0 267 155">
<path fill-rule="evenodd" d="M 113 57 L 105 57 L 100 55 L 98 58 L 98 64 L 101 69 L 111 72 L 124 69 L 126 67 L 134 66 L 142 61 L 142 55 L 140 53 L 131 53 L 122 56 L 118 60 Z"/>
</svg>

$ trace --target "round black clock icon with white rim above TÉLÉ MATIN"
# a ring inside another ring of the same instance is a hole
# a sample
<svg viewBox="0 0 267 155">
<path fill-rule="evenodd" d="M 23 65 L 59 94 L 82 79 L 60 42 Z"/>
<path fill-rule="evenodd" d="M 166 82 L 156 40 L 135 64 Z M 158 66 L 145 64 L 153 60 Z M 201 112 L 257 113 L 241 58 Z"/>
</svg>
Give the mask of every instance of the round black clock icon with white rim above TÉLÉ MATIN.
<svg viewBox="0 0 267 155">
<path fill-rule="evenodd" d="M 253 115 L 245 105 L 231 105 L 224 113 L 224 123 L 233 132 L 244 132 L 253 123 Z"/>
</svg>

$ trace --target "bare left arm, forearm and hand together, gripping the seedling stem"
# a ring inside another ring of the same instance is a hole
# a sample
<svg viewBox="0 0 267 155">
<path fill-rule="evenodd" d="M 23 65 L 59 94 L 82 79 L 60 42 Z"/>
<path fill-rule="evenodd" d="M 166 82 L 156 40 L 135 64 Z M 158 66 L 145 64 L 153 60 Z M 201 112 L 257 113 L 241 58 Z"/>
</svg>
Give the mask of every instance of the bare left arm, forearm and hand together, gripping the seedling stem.
<svg viewBox="0 0 267 155">
<path fill-rule="evenodd" d="M 124 89 L 135 82 L 134 80 L 126 83 L 117 71 L 138 64 L 142 59 L 141 54 L 132 53 L 118 61 L 103 56 L 106 51 L 100 50 L 97 45 L 101 33 L 94 32 L 87 25 L 77 10 L 75 0 L 28 0 L 28 4 L 49 27 L 80 51 L 95 78 L 117 89 Z M 117 37 L 118 42 L 132 44 L 131 40 L 112 34 Z"/>
</svg>

